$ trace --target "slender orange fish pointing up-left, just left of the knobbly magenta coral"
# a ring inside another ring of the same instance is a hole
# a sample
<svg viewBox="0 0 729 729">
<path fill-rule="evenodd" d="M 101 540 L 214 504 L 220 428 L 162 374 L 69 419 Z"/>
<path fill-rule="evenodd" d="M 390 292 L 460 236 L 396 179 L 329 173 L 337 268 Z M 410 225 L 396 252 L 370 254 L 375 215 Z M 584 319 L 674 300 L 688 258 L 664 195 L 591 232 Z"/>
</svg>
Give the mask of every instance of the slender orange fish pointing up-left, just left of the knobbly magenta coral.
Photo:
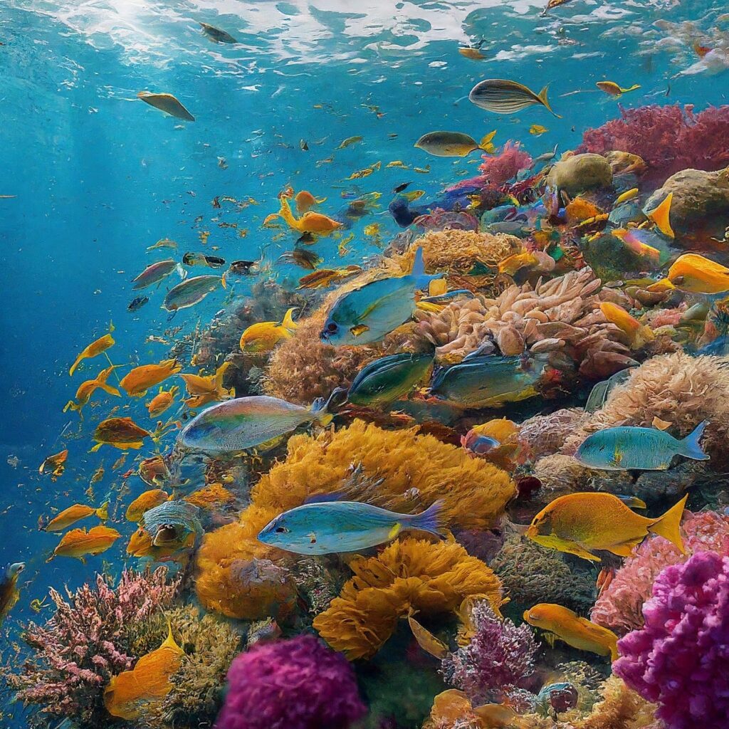
<svg viewBox="0 0 729 729">
<path fill-rule="evenodd" d="M 550 631 L 566 644 L 617 660 L 617 636 L 601 625 L 591 623 L 569 608 L 542 602 L 524 611 L 524 620 L 535 628 Z"/>
</svg>

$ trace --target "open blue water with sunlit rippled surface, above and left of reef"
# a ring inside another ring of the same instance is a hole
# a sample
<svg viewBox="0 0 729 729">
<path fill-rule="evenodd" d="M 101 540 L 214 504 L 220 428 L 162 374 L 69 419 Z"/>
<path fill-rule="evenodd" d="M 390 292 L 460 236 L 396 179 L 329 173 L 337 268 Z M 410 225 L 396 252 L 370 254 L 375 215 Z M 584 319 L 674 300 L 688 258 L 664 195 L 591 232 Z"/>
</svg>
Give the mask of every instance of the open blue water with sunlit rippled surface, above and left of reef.
<svg viewBox="0 0 729 729">
<path fill-rule="evenodd" d="M 158 361 L 167 348 L 146 341 L 149 335 L 163 335 L 172 325 L 182 326 L 182 335 L 209 321 L 229 296 L 219 289 L 168 322 L 160 308 L 163 287 L 144 292 L 150 302 L 130 313 L 130 279 L 170 253 L 148 253 L 148 246 L 172 238 L 179 254 L 200 251 L 228 261 L 254 260 L 265 250 L 273 276 L 295 286 L 305 272 L 276 259 L 292 249 L 297 234 L 272 242 L 275 232 L 262 227 L 278 210 L 276 196 L 286 184 L 326 197 L 321 209 L 330 214 L 346 204 L 343 192 L 383 194 L 382 207 L 354 225 L 345 255 L 333 239 L 316 246 L 327 263 L 360 263 L 399 230 L 386 212 L 392 188 L 411 182 L 410 189 L 430 196 L 475 174 L 477 155 L 429 157 L 413 148 L 421 134 L 457 129 L 480 139 L 496 129 L 496 142 L 521 140 L 532 155 L 555 144 L 571 149 L 585 128 L 617 115 L 618 101 L 595 90 L 604 79 L 642 86 L 620 99 L 626 107 L 727 103 L 725 66 L 701 61 L 691 48 L 693 40 L 726 44 L 729 21 L 721 17 L 720 0 L 574 0 L 546 17 L 543 4 L 2 3 L 0 195 L 9 197 L 0 198 L 0 564 L 28 564 L 4 634 L 35 617 L 29 603 L 49 585 L 73 588 L 101 569 L 102 560 L 117 570 L 125 561 L 133 525 L 121 526 L 124 539 L 103 558 L 86 565 L 45 562 L 58 535 L 39 531 L 39 517 L 50 506 L 82 501 L 101 464 L 106 473 L 96 494 L 112 492 L 119 480 L 111 469 L 118 452 L 88 452 L 90 421 L 99 410 L 87 411 L 85 437 L 70 437 L 79 418 L 62 408 L 79 382 L 68 376 L 76 354 L 113 321 L 114 362 Z M 238 44 L 209 42 L 198 21 L 225 28 Z M 459 55 L 459 44 L 482 39 L 485 60 Z M 488 77 L 534 90 L 550 84 L 553 108 L 563 118 L 534 107 L 512 117 L 486 114 L 464 97 Z M 136 98 L 140 90 L 173 93 L 195 122 L 143 104 Z M 535 123 L 548 131 L 530 135 Z M 336 149 L 351 136 L 364 139 Z M 386 167 L 393 160 L 410 169 Z M 377 162 L 382 167 L 370 176 L 347 179 Z M 255 203 L 240 211 L 214 208 L 211 200 L 222 195 Z M 235 222 L 238 229 L 219 222 Z M 375 222 L 379 246 L 363 233 Z M 241 229 L 248 231 L 243 238 Z M 209 231 L 206 243 L 203 231 Z M 235 284 L 236 297 L 246 294 L 246 285 Z M 83 372 L 95 372 L 95 365 Z M 140 421 L 147 414 L 143 403 L 132 411 Z M 65 446 L 63 477 L 39 477 L 43 459 Z"/>
</svg>

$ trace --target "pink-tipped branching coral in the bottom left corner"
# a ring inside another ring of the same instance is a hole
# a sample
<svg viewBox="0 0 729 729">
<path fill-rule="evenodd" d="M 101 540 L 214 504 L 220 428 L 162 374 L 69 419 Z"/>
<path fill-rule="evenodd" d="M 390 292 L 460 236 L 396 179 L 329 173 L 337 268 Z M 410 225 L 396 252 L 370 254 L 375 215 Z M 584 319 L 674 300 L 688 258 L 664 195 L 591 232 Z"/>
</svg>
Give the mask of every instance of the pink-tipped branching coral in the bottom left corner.
<svg viewBox="0 0 729 729">
<path fill-rule="evenodd" d="M 7 673 L 17 700 L 37 707 L 36 719 L 48 716 L 73 720 L 80 728 L 96 728 L 108 715 L 104 686 L 114 674 L 132 668 L 136 656 L 129 629 L 158 610 L 170 607 L 178 581 L 167 582 L 167 570 L 122 572 L 112 588 L 98 575 L 94 587 L 83 585 L 66 599 L 50 590 L 55 614 L 43 626 L 31 623 L 25 633 L 34 659 L 20 673 Z"/>
</svg>

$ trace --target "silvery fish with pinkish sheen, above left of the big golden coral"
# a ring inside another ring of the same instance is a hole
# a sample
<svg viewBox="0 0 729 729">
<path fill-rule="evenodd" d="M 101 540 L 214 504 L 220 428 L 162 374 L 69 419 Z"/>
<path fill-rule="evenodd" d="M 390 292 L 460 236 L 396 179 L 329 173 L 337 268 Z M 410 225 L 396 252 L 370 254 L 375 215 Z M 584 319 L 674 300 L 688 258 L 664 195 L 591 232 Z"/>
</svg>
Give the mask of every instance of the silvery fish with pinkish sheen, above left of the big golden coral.
<svg viewBox="0 0 729 729">
<path fill-rule="evenodd" d="M 242 453 L 256 448 L 313 421 L 328 425 L 332 415 L 327 403 L 318 399 L 311 408 L 292 402 L 254 395 L 219 402 L 203 410 L 182 429 L 177 446 L 182 451 L 207 453 Z"/>
</svg>

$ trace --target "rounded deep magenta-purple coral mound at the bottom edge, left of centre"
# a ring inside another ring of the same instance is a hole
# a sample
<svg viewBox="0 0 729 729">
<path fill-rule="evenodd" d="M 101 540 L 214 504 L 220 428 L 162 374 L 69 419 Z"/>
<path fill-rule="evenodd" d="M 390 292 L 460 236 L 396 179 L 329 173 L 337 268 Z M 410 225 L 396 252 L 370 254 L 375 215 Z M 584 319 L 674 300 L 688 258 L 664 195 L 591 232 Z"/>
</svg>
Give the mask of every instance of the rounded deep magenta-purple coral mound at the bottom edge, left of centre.
<svg viewBox="0 0 729 729">
<path fill-rule="evenodd" d="M 216 729 L 347 729 L 367 711 L 346 658 L 311 635 L 238 655 Z"/>
</svg>

